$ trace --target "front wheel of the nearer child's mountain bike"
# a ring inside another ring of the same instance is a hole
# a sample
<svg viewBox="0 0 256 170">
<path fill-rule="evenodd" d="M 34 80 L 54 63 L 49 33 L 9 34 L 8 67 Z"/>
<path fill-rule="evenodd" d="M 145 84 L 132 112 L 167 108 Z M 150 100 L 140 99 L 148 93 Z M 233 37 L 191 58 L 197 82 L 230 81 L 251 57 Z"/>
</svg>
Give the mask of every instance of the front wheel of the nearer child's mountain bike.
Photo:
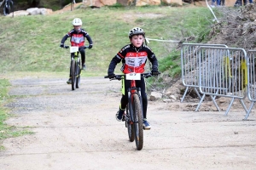
<svg viewBox="0 0 256 170">
<path fill-rule="evenodd" d="M 133 94 L 134 133 L 137 150 L 143 149 L 143 110 L 138 94 Z"/>
</svg>

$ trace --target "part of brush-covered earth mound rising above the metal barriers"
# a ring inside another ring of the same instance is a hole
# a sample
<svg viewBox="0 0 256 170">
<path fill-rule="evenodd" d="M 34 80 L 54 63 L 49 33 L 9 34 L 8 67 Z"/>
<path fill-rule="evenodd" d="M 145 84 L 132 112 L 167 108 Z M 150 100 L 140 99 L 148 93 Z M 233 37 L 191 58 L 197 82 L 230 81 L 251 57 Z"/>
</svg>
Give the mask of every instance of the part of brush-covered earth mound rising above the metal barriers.
<svg viewBox="0 0 256 170">
<path fill-rule="evenodd" d="M 256 49 L 256 3 L 240 8 L 218 8 L 223 18 L 212 26 L 209 34 L 213 44 L 232 48 Z"/>
</svg>

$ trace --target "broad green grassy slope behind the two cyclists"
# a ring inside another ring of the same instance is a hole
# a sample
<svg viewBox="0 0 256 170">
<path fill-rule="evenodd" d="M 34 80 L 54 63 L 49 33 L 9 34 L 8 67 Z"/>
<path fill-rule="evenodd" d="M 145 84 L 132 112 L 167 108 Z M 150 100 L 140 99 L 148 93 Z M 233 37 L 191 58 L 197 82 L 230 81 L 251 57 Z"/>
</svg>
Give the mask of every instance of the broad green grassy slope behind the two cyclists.
<svg viewBox="0 0 256 170">
<path fill-rule="evenodd" d="M 110 59 L 129 43 L 128 31 L 143 27 L 154 39 L 182 40 L 197 36 L 211 24 L 207 8 L 79 8 L 72 12 L 50 15 L 2 17 L 0 25 L 0 72 L 69 70 L 69 52 L 59 48 L 61 38 L 73 26 L 73 18 L 83 20 L 94 47 L 86 51 L 87 74 L 106 74 Z M 69 43 L 69 40 L 66 42 Z M 172 42 L 148 44 L 158 59 L 170 55 Z M 119 69 L 117 69 L 119 70 Z"/>
</svg>

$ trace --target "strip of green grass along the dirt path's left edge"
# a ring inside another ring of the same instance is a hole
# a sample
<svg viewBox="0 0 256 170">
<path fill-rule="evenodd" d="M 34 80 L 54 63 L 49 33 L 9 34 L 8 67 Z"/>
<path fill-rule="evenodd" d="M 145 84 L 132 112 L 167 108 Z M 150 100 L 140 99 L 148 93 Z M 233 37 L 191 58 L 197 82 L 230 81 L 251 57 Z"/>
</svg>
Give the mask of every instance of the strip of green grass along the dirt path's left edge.
<svg viewBox="0 0 256 170">
<path fill-rule="evenodd" d="M 0 144 L 3 142 L 3 139 L 32 133 L 28 130 L 28 127 L 9 126 L 4 122 L 10 117 L 8 109 L 3 107 L 10 100 L 8 95 L 9 86 L 8 80 L 0 79 Z M 4 150 L 2 145 L 0 145 L 0 150 Z"/>
</svg>

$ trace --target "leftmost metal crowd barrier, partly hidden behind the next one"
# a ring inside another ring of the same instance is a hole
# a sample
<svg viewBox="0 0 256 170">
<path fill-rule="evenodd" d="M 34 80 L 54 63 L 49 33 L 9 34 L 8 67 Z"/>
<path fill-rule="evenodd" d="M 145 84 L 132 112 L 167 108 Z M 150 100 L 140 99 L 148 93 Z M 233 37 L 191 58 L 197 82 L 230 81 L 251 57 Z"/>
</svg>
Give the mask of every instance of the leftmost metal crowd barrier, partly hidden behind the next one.
<svg viewBox="0 0 256 170">
<path fill-rule="evenodd" d="M 186 87 L 181 102 L 183 102 L 189 88 L 194 88 L 195 93 L 201 99 L 199 88 L 199 48 L 201 46 L 225 47 L 224 44 L 204 44 L 204 43 L 183 43 L 181 48 L 182 81 Z"/>
</svg>

